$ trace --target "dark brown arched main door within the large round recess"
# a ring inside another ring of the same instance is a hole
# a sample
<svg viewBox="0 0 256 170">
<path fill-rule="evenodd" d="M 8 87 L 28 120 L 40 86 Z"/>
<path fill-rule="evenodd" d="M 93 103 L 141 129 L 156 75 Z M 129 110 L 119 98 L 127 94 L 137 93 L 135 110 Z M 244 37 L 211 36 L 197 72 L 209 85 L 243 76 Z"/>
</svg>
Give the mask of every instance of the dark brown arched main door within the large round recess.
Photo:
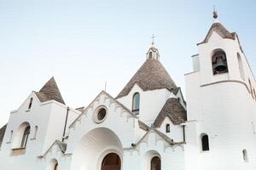
<svg viewBox="0 0 256 170">
<path fill-rule="evenodd" d="M 115 153 L 110 153 L 102 161 L 102 170 L 120 170 L 121 159 Z"/>
</svg>

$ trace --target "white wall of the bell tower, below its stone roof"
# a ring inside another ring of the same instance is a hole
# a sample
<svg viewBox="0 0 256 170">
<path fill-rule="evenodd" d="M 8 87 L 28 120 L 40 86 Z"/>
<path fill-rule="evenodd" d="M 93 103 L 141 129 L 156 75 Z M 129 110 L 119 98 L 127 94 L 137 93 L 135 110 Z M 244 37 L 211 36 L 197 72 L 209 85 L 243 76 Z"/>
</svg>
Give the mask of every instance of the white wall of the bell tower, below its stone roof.
<svg viewBox="0 0 256 170">
<path fill-rule="evenodd" d="M 211 57 L 216 48 L 225 51 L 229 73 L 212 75 Z M 223 39 L 216 32 L 212 33 L 209 42 L 199 45 L 201 71 L 186 75 L 186 169 L 242 170 L 256 166 L 253 151 L 256 150 L 253 142 L 256 105 L 248 86 L 242 83 L 237 52 L 241 52 L 237 40 Z M 243 57 L 244 61 L 246 58 Z M 248 72 L 248 65 L 244 65 L 245 75 L 252 81 L 253 74 Z M 233 82 L 219 82 L 229 80 Z M 208 134 L 210 151 L 201 151 L 201 133 Z M 249 162 L 243 161 L 244 149 L 248 152 Z"/>
</svg>

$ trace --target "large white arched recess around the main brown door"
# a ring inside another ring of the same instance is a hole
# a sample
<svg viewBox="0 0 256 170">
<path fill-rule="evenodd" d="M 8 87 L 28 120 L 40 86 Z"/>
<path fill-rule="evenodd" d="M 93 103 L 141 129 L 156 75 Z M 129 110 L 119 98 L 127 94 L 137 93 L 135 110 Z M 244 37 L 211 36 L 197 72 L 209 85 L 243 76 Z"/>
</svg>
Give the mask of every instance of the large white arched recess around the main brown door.
<svg viewBox="0 0 256 170">
<path fill-rule="evenodd" d="M 72 169 L 101 170 L 102 161 L 109 153 L 123 161 L 123 145 L 116 133 L 106 127 L 97 127 L 84 134 L 73 150 Z"/>
</svg>

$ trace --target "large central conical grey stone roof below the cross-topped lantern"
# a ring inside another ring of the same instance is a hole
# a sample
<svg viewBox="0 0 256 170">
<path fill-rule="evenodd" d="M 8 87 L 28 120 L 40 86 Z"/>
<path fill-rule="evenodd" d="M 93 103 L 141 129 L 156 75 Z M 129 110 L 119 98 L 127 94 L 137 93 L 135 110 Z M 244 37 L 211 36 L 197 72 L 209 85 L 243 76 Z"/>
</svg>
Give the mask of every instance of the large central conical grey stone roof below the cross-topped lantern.
<svg viewBox="0 0 256 170">
<path fill-rule="evenodd" d="M 166 88 L 177 88 L 176 84 L 172 81 L 168 72 L 161 65 L 158 59 L 147 59 L 137 73 L 131 78 L 119 93 L 117 98 L 121 98 L 130 93 L 131 88 L 137 83 L 137 85 L 143 89 L 143 91 Z"/>
</svg>

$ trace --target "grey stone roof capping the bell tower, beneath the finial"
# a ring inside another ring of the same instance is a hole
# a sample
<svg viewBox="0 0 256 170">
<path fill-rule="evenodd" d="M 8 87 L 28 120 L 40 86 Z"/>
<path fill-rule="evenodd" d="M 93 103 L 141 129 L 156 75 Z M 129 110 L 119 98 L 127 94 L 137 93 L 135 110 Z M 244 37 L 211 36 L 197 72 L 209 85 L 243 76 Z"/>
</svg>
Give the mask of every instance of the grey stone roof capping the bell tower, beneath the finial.
<svg viewBox="0 0 256 170">
<path fill-rule="evenodd" d="M 220 37 L 229 38 L 232 40 L 236 39 L 236 32 L 230 33 L 230 31 L 228 31 L 221 23 L 215 22 L 212 24 L 210 30 L 208 31 L 207 37 L 201 43 L 208 42 L 210 37 L 212 36 L 213 31 L 217 32 Z"/>
</svg>

